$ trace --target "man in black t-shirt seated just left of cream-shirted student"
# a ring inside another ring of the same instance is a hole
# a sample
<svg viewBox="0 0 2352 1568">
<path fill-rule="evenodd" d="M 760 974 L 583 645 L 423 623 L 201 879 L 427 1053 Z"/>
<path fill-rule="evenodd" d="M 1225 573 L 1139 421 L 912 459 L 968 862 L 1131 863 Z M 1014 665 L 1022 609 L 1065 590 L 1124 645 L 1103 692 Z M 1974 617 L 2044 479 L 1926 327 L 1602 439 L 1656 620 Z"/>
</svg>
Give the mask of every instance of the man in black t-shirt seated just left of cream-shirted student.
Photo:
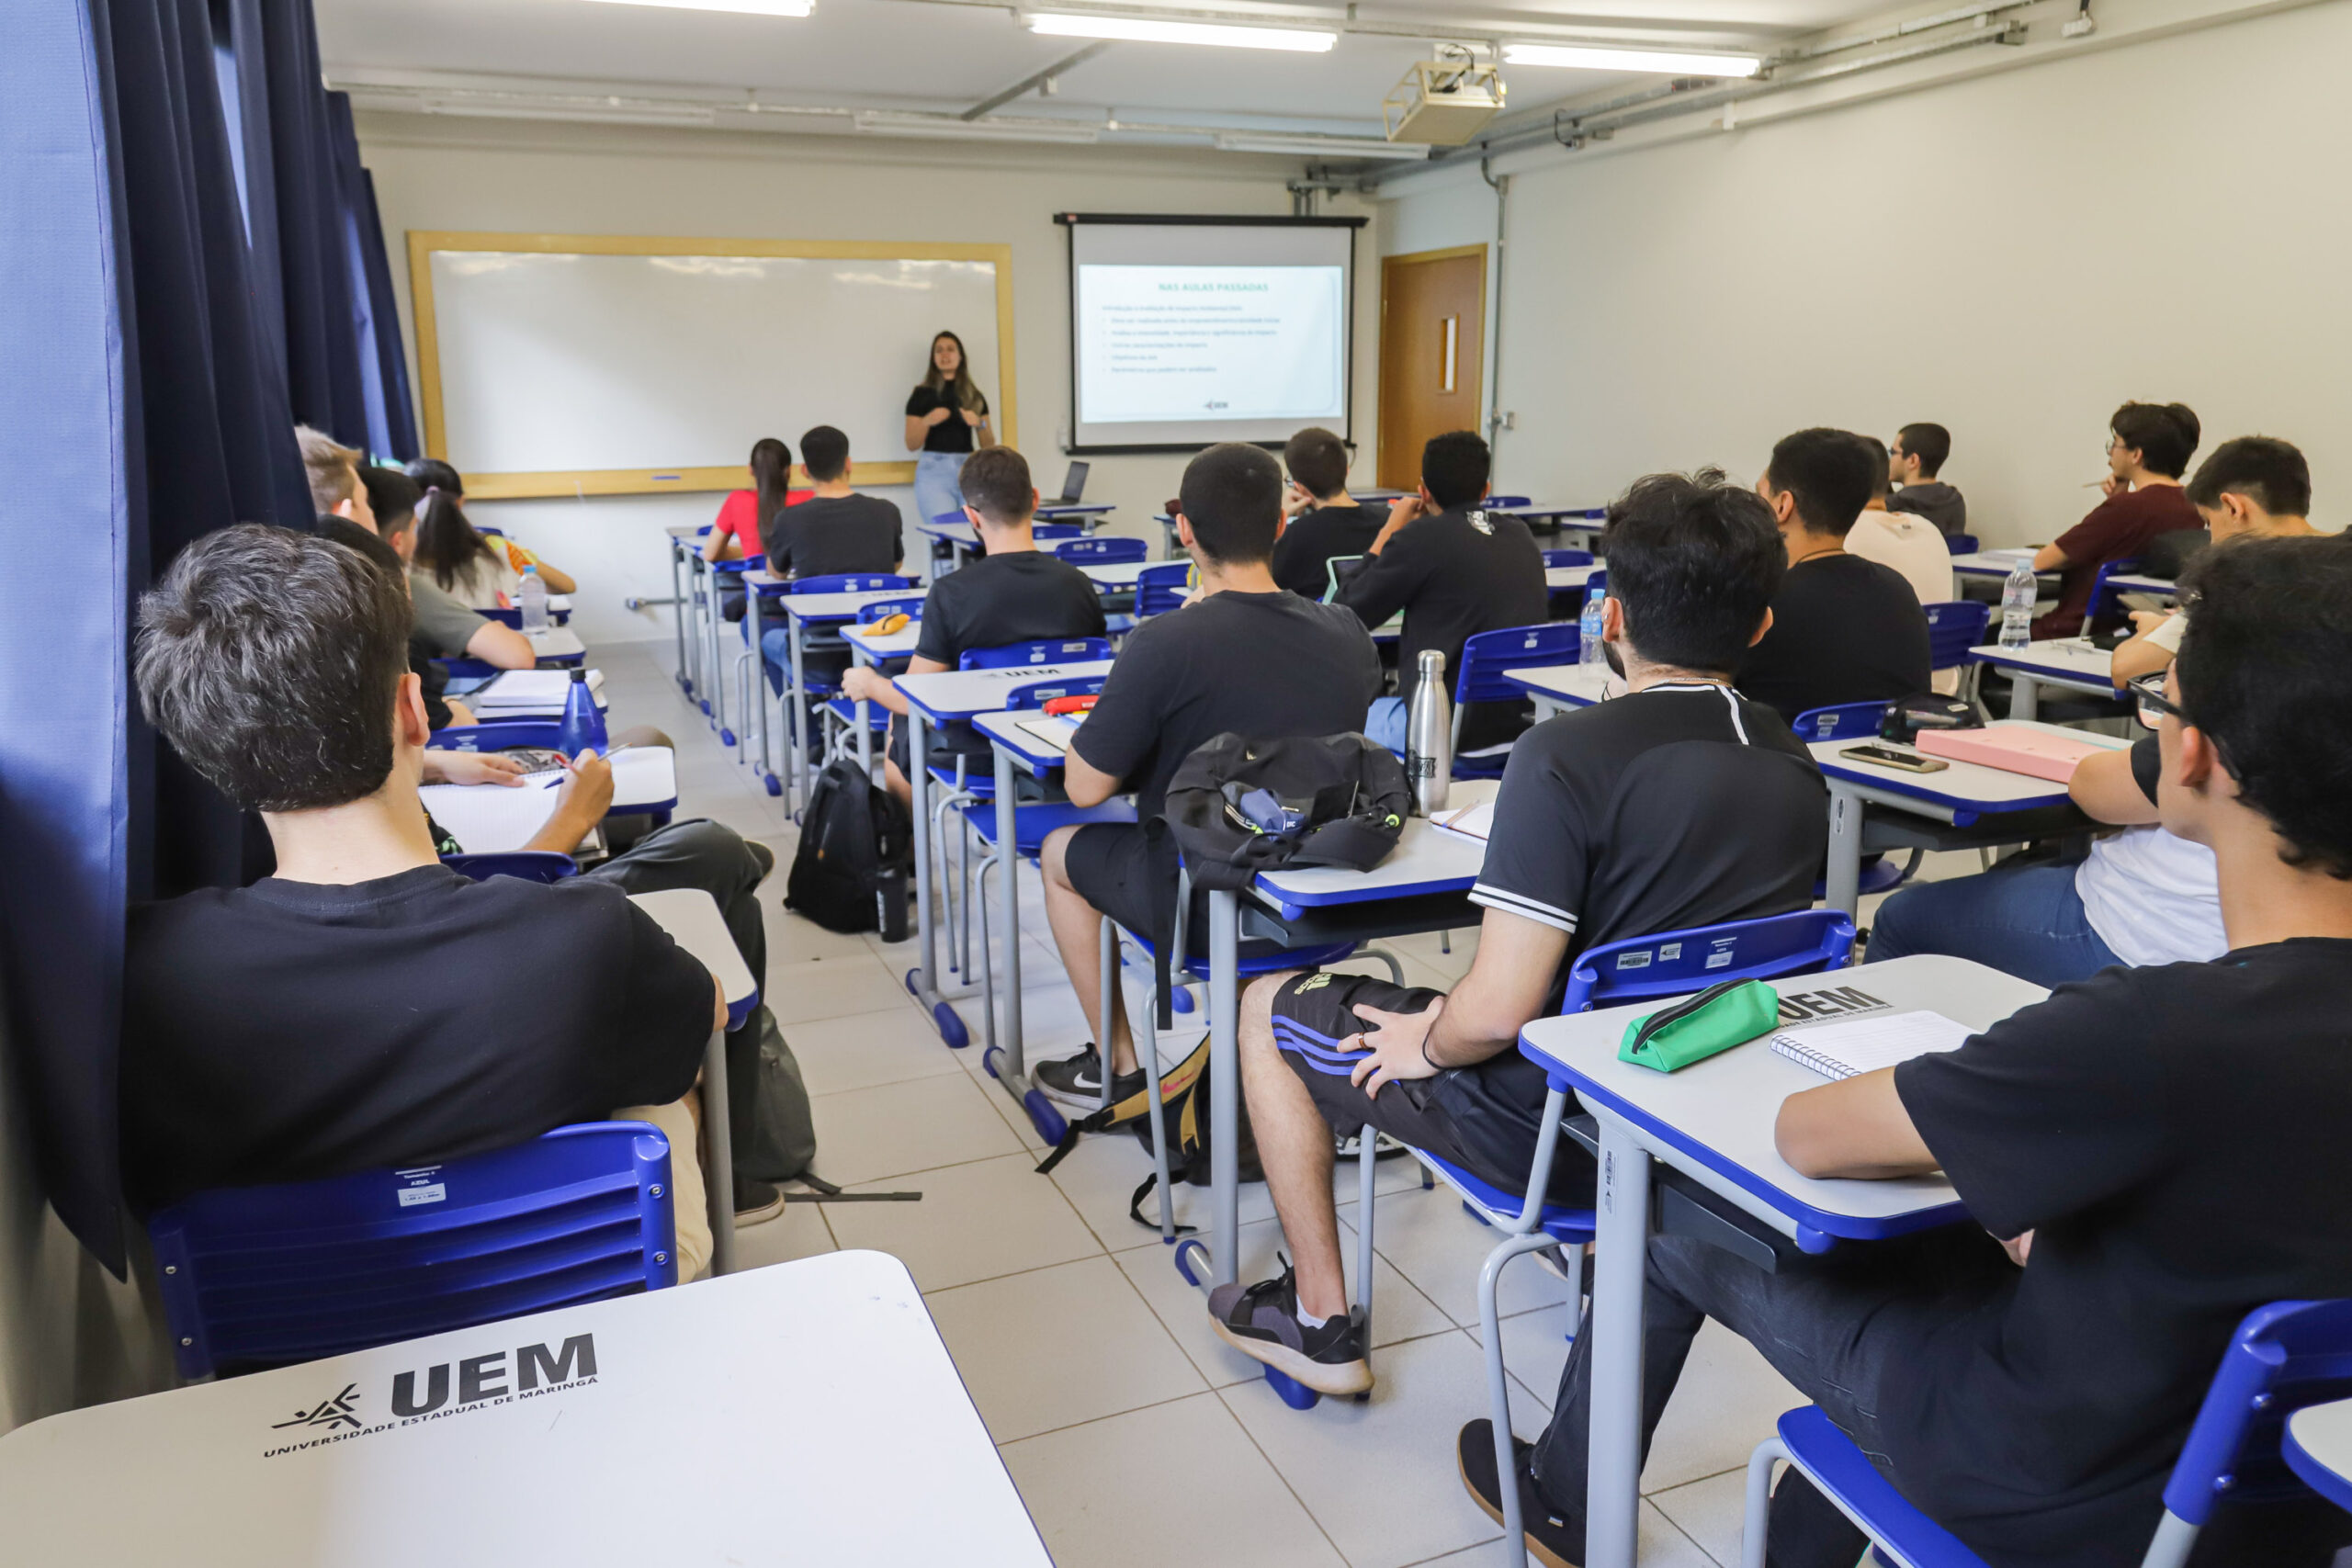
<svg viewBox="0 0 2352 1568">
<path fill-rule="evenodd" d="M 1740 691 L 1795 722 L 1809 708 L 1929 689 L 1926 616 L 1891 567 L 1846 550 L 1877 489 L 1877 458 L 1846 430 L 1799 430 L 1771 449 L 1757 494 L 1788 548 L 1771 630 L 1740 663 Z"/>
</svg>

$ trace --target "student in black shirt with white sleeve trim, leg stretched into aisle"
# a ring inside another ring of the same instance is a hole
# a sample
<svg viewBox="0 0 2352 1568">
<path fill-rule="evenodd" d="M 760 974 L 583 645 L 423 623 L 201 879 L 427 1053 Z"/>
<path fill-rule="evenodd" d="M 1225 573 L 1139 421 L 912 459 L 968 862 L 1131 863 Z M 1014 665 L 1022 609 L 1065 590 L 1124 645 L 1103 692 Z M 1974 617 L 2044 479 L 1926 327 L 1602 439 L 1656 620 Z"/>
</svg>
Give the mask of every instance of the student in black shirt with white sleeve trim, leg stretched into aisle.
<svg viewBox="0 0 2352 1568">
<path fill-rule="evenodd" d="M 1717 473 L 1651 475 L 1609 508 L 1604 646 L 1630 693 L 1519 738 L 1496 797 L 1477 959 L 1444 997 L 1341 973 L 1279 973 L 1242 997 L 1242 1086 L 1291 1269 L 1218 1286 L 1209 1321 L 1247 1356 L 1327 1394 L 1371 1387 L 1348 1321 L 1331 1135 L 1371 1126 L 1524 1192 L 1545 1084 L 1519 1027 L 1559 1006 L 1595 943 L 1813 900 L 1828 849 L 1820 771 L 1731 668 L 1785 571 L 1764 505 Z M 1334 1077 L 1282 1041 L 1362 1048 Z M 1592 1201 L 1564 1154 L 1555 1192 Z"/>
</svg>

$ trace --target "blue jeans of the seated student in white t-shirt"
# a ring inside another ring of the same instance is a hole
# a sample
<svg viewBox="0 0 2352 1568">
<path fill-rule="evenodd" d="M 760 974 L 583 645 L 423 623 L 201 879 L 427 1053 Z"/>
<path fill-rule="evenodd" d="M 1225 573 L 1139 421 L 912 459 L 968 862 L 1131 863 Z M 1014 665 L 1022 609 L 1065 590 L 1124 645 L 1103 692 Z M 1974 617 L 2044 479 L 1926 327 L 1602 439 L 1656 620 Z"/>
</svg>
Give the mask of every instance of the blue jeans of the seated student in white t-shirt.
<svg viewBox="0 0 2352 1568">
<path fill-rule="evenodd" d="M 2034 985 L 2089 980 L 2124 961 L 2091 929 L 2074 891 L 2074 863 L 1903 889 L 1870 922 L 1870 961 L 1912 952 L 1976 959 Z"/>
</svg>

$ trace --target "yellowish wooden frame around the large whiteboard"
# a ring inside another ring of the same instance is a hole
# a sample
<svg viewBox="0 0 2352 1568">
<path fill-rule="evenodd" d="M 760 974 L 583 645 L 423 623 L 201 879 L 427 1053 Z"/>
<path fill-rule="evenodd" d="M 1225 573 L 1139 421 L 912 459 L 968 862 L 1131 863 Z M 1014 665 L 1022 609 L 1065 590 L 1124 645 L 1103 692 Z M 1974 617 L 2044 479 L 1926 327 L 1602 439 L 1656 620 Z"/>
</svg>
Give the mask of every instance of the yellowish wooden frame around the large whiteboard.
<svg viewBox="0 0 2352 1568">
<path fill-rule="evenodd" d="M 661 235 L 482 235 L 409 230 L 409 301 L 416 310 L 416 378 L 426 404 L 426 456 L 449 461 L 442 428 L 440 339 L 433 320 L 433 252 L 517 252 L 539 256 L 788 256 L 802 261 L 988 261 L 997 273 L 997 442 L 1018 444 L 1014 390 L 1014 247 L 943 244 L 927 240 L 673 240 Z M 797 463 L 795 475 L 807 477 Z M 858 463 L 875 484 L 913 484 L 915 463 Z M 583 468 L 548 473 L 468 473 L 473 501 L 529 496 L 659 496 L 673 491 L 741 489 L 743 465 L 722 468 Z"/>
</svg>

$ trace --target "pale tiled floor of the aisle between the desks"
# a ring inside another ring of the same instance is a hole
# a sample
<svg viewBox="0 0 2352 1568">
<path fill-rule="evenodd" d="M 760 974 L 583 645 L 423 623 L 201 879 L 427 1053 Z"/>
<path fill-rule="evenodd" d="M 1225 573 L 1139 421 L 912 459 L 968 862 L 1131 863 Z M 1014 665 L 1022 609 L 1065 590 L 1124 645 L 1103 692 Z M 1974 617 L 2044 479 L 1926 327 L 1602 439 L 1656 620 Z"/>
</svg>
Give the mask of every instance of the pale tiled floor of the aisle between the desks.
<svg viewBox="0 0 2352 1568">
<path fill-rule="evenodd" d="M 1454 1434 L 1484 1413 L 1477 1267 L 1494 1232 L 1404 1161 L 1383 1166 L 1374 1279 L 1378 1389 L 1367 1406 L 1296 1413 L 1256 1363 L 1207 1328 L 1152 1232 L 1127 1218 L 1141 1145 L 1089 1138 L 1051 1175 L 1021 1110 L 948 1051 L 906 994 L 913 943 L 835 936 L 788 914 L 793 827 L 670 679 L 668 644 L 600 649 L 614 712 L 677 741 L 680 816 L 710 816 L 776 849 L 767 997 L 816 1100 L 818 1171 L 847 1187 L 920 1190 L 920 1204 L 793 1204 L 743 1232 L 746 1265 L 866 1246 L 913 1269 L 988 1429 L 1061 1568 L 1404 1568 L 1501 1561 L 1498 1530 L 1463 1495 Z M 1943 872 L 1976 870 L 1943 856 Z M 1042 933 L 1035 884 L 1023 929 Z M 1397 943 L 1409 978 L 1449 985 L 1470 933 Z M 1051 952 L 1023 936 L 1025 1037 L 1058 1053 L 1091 1037 Z M 974 987 L 976 990 L 976 987 Z M 974 1039 L 976 1001 L 960 1004 Z M 1355 1175 L 1341 1173 L 1355 1265 Z M 1204 1194 L 1181 1190 L 1178 1218 Z M 1270 1274 L 1279 1232 L 1265 1187 L 1244 1187 L 1242 1276 Z M 1566 1288 L 1531 1265 L 1505 1276 L 1503 1352 L 1515 1425 L 1534 1436 L 1566 1356 Z M 1740 1467 L 1802 1399 L 1740 1340 L 1710 1326 L 1644 1476 L 1642 1561 L 1738 1561 Z M 1181 1523 L 1181 1528 L 1167 1528 Z"/>
</svg>

